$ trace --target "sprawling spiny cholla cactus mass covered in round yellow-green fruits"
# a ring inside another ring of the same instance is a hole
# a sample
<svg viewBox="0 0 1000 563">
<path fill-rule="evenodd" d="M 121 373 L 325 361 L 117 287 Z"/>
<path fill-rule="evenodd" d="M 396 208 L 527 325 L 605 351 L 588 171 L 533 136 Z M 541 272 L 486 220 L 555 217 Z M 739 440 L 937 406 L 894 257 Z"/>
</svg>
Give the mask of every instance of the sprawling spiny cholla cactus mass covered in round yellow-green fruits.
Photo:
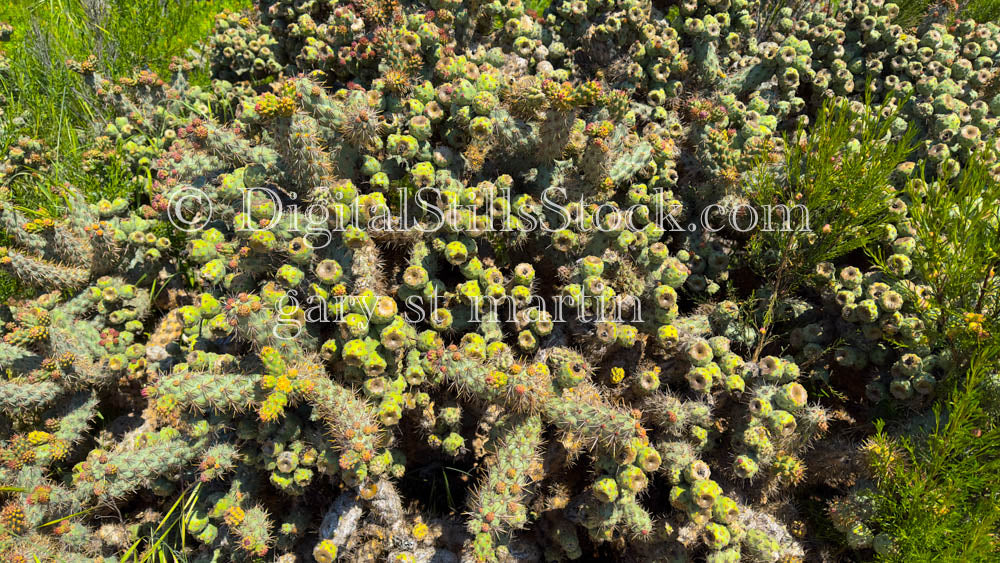
<svg viewBox="0 0 1000 563">
<path fill-rule="evenodd" d="M 925 407 L 952 363 L 907 203 L 1000 175 L 1000 27 L 669 4 L 257 0 L 169 79 L 71 61 L 114 114 L 88 170 L 148 192 L 0 191 L 0 267 L 48 291 L 2 310 L 3 559 L 111 560 L 155 526 L 39 526 L 194 483 L 192 561 L 811 557 L 795 495 L 848 418 L 814 391 Z M 822 262 L 765 338 L 741 189 L 831 104 L 917 139 L 886 267 Z M 829 512 L 888 549 L 868 511 Z"/>
</svg>

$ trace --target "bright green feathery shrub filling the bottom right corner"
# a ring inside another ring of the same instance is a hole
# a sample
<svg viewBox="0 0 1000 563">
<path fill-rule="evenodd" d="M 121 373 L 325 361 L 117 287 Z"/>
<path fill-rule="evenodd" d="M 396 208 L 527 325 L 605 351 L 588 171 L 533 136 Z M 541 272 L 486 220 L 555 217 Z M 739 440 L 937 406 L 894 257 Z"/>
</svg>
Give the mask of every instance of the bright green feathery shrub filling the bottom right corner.
<svg viewBox="0 0 1000 563">
<path fill-rule="evenodd" d="M 981 383 L 998 355 L 995 343 L 975 352 L 929 430 L 880 425 L 868 443 L 875 522 L 895 544 L 880 560 L 1000 560 L 1000 428 L 981 404 Z"/>
</svg>

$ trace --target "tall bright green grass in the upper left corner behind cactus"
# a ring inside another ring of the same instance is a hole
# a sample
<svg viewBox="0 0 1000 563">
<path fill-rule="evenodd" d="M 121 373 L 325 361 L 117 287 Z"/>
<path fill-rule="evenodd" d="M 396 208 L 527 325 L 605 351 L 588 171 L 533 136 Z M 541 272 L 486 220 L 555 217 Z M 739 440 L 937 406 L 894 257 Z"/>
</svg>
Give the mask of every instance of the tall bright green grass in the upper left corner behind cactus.
<svg viewBox="0 0 1000 563">
<path fill-rule="evenodd" d="M 100 130 L 104 109 L 95 103 L 67 59 L 97 57 L 107 76 L 134 69 L 165 73 L 173 57 L 184 55 L 210 32 L 215 14 L 240 10 L 251 0 L 11 0 L 0 2 L 0 21 L 14 26 L 0 44 L 11 62 L 0 75 L 0 152 L 21 136 L 42 139 L 52 150 L 45 173 L 6 186 L 29 209 L 56 211 L 52 187 L 72 183 L 92 199 L 128 195 L 137 186 L 110 169 L 84 171 L 82 153 Z M 202 77 L 207 79 L 207 77 Z M 0 245 L 7 237 L 0 232 Z M 0 275 L 0 299 L 18 293 L 13 279 Z"/>
</svg>

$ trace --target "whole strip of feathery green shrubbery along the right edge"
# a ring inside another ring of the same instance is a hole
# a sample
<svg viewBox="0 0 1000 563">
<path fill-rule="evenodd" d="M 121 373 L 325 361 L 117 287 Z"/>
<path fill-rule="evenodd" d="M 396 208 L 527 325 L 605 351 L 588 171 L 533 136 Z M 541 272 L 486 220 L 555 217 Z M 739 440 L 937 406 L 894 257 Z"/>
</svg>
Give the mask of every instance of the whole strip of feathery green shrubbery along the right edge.
<svg viewBox="0 0 1000 563">
<path fill-rule="evenodd" d="M 913 268 L 930 288 L 922 320 L 954 368 L 929 428 L 879 426 L 867 448 L 888 561 L 1000 560 L 1000 183 L 983 160 L 906 194 Z"/>
</svg>

